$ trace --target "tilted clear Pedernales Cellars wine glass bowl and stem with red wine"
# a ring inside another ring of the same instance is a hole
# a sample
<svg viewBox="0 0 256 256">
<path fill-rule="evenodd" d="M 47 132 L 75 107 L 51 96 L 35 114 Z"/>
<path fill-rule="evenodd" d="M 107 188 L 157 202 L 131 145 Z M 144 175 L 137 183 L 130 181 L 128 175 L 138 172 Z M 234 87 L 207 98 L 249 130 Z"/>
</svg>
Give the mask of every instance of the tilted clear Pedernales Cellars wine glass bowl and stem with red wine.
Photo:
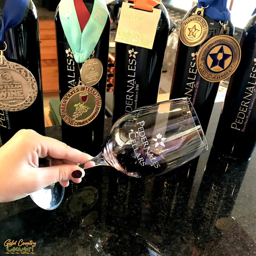
<svg viewBox="0 0 256 256">
<path fill-rule="evenodd" d="M 133 177 L 154 177 L 208 150 L 205 135 L 188 98 L 133 110 L 113 125 L 105 146 L 90 161 Z M 84 169 L 85 163 L 79 166 Z"/>
</svg>

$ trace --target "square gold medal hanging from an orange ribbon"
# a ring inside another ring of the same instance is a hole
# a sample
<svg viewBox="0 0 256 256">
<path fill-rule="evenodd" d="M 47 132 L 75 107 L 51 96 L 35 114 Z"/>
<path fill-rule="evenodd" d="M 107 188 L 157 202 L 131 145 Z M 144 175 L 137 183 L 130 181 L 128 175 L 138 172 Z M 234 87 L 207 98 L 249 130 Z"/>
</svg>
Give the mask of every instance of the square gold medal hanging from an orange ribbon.
<svg viewBox="0 0 256 256">
<path fill-rule="evenodd" d="M 152 49 L 161 10 L 148 12 L 133 7 L 123 2 L 115 42 Z"/>
</svg>

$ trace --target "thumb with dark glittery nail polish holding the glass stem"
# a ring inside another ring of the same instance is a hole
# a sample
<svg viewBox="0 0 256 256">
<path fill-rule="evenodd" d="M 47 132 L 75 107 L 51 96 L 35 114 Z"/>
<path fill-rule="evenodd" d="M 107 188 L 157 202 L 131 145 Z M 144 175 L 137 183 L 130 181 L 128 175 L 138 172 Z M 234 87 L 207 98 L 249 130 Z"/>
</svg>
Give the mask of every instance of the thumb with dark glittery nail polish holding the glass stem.
<svg viewBox="0 0 256 256">
<path fill-rule="evenodd" d="M 47 187 L 58 181 L 78 179 L 84 177 L 82 168 L 73 164 L 60 164 L 40 168 L 40 186 Z"/>
</svg>

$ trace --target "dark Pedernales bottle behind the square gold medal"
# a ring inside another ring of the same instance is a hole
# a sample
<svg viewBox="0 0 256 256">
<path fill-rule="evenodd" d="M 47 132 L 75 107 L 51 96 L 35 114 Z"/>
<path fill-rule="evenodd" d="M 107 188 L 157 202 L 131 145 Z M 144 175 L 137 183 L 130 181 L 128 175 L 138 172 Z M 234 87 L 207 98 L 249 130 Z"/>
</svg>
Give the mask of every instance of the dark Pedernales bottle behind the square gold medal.
<svg viewBox="0 0 256 256">
<path fill-rule="evenodd" d="M 161 16 L 152 49 L 116 43 L 113 122 L 125 113 L 157 101 L 170 18 L 162 3 L 154 8 L 161 10 Z M 132 50 L 137 52 L 135 58 L 129 54 Z"/>
</svg>

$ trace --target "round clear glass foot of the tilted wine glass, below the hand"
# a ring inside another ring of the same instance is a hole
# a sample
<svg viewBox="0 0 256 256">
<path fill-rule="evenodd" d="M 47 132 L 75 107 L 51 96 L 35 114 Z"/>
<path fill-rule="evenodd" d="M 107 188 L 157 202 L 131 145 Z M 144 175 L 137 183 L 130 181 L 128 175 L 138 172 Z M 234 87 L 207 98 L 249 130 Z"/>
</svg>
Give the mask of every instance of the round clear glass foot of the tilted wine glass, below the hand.
<svg viewBox="0 0 256 256">
<path fill-rule="evenodd" d="M 64 197 L 65 188 L 59 182 L 40 189 L 30 195 L 32 200 L 45 210 L 57 208 Z"/>
</svg>

